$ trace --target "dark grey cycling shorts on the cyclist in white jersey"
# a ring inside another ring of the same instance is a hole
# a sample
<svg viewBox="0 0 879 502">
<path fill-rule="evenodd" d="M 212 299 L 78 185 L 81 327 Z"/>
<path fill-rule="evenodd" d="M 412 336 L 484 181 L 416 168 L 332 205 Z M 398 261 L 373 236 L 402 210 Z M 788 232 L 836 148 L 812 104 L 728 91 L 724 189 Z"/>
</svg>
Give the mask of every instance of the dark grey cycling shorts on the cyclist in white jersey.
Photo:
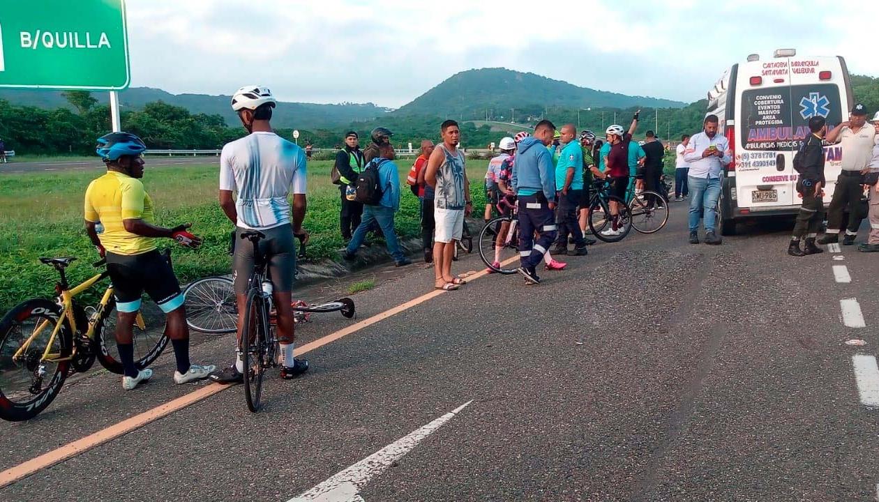
<svg viewBox="0 0 879 502">
<path fill-rule="evenodd" d="M 241 227 L 235 229 L 235 256 L 232 258 L 232 280 L 235 281 L 235 292 L 239 295 L 247 293 L 247 283 L 251 280 L 253 268 L 253 244 L 242 239 L 241 234 L 248 231 Z M 268 261 L 268 277 L 272 287 L 279 293 L 293 290 L 293 279 L 296 273 L 296 244 L 294 243 L 293 227 L 289 224 L 279 225 L 273 229 L 259 230 L 265 239 L 259 241 L 259 251 Z"/>
</svg>

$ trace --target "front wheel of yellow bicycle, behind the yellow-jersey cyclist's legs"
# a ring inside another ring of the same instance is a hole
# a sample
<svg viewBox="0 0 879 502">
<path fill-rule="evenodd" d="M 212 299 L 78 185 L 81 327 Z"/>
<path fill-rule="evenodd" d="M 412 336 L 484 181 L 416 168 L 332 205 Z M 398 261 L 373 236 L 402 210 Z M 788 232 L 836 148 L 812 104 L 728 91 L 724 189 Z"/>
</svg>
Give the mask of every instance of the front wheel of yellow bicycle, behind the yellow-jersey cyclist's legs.
<svg viewBox="0 0 879 502">
<path fill-rule="evenodd" d="M 145 302 L 143 304 L 146 305 Z M 158 316 L 157 310 L 151 312 L 150 316 Z M 142 324 L 143 310 L 138 317 L 139 319 L 134 323 L 132 342 L 134 344 L 134 367 L 142 370 L 149 367 L 162 355 L 164 348 L 168 346 L 169 338 L 164 329 L 150 331 L 146 324 Z M 95 341 L 98 344 L 98 362 L 107 371 L 122 375 L 125 371 L 119 357 L 119 349 L 116 346 L 116 318 L 116 300 L 110 296 L 110 300 L 98 316 L 94 333 Z"/>
</svg>

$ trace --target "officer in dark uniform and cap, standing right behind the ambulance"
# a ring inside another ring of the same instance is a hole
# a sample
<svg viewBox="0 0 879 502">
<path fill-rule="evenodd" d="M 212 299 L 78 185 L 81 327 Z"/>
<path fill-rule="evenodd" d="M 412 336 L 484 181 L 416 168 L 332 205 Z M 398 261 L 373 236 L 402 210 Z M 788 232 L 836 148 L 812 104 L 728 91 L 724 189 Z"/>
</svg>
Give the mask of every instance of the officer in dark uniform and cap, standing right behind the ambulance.
<svg viewBox="0 0 879 502">
<path fill-rule="evenodd" d="M 803 197 L 803 206 L 796 215 L 794 236 L 788 245 L 790 256 L 805 256 L 824 252 L 815 245 L 815 237 L 821 222 L 824 221 L 824 137 L 827 132 L 824 117 L 816 116 L 809 120 L 809 130 L 812 134 L 806 138 L 800 151 L 797 152 L 794 169 L 800 173 L 796 182 L 796 191 Z M 800 239 L 806 237 L 804 248 L 800 249 Z"/>
</svg>

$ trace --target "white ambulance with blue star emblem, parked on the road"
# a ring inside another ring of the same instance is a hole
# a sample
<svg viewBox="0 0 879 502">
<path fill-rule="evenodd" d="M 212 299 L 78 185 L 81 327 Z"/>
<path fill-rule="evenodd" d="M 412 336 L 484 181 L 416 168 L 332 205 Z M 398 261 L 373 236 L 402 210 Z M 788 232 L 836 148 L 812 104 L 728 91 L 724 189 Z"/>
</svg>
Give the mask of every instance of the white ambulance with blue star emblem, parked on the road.
<svg viewBox="0 0 879 502">
<path fill-rule="evenodd" d="M 809 119 L 821 115 L 832 128 L 848 120 L 852 87 L 842 57 L 801 57 L 779 49 L 771 60 L 749 55 L 708 91 L 708 114 L 720 119 L 733 162 L 725 171 L 717 228 L 735 234 L 736 222 L 770 215 L 795 215 L 796 149 L 810 134 Z M 825 205 L 842 168 L 841 148 L 825 145 Z"/>
</svg>

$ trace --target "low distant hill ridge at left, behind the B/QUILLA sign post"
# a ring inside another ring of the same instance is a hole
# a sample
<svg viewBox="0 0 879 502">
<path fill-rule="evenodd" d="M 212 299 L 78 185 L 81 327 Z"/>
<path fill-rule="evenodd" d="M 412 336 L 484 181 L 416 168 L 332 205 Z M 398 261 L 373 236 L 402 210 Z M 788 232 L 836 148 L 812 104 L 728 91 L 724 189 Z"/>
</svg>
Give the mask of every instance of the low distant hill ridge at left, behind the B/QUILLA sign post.
<svg viewBox="0 0 879 502">
<path fill-rule="evenodd" d="M 109 94 L 106 92 L 94 92 L 92 96 L 98 98 L 98 103 L 106 105 Z M 31 105 L 52 110 L 55 108 L 68 108 L 74 110 L 61 91 L 25 91 L 25 90 L 0 90 L 0 99 L 5 99 L 11 105 Z M 191 113 L 205 113 L 207 115 L 221 115 L 229 125 L 237 125 L 238 119 L 229 106 L 231 96 L 210 96 L 207 94 L 171 94 L 161 89 L 149 87 L 132 87 L 120 92 L 120 105 L 122 110 L 141 110 L 143 105 L 155 101 L 163 101 L 168 105 L 182 106 Z M 350 122 L 360 120 L 372 120 L 388 112 L 388 108 L 373 105 L 372 103 L 356 104 L 341 103 L 338 105 L 316 105 L 312 103 L 288 103 L 278 104 L 274 123 L 277 127 L 337 127 Z"/>
</svg>

